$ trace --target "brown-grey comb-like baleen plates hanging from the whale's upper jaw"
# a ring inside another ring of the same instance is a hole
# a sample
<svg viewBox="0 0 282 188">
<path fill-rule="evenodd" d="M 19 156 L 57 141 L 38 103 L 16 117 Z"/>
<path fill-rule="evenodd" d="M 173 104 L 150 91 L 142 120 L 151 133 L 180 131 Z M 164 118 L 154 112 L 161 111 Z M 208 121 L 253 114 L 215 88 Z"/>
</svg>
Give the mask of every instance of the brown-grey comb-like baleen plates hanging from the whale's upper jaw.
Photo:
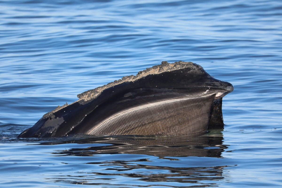
<svg viewBox="0 0 282 188">
<path fill-rule="evenodd" d="M 138 106 L 107 118 L 87 134 L 195 134 L 207 130 L 215 94 Z"/>
</svg>

